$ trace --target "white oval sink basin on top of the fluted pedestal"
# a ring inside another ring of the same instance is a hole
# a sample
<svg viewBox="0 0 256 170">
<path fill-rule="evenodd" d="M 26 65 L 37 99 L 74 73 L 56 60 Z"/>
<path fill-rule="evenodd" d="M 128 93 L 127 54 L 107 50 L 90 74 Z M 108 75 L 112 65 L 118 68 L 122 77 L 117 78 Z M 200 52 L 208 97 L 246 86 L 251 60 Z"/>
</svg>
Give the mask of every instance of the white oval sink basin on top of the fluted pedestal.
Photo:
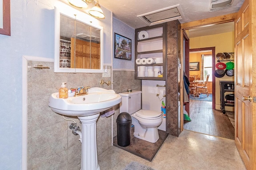
<svg viewBox="0 0 256 170">
<path fill-rule="evenodd" d="M 90 116 L 100 113 L 121 102 L 121 96 L 114 90 L 92 87 L 87 95 L 59 99 L 59 93 L 52 93 L 48 106 L 52 111 L 68 116 Z"/>
</svg>

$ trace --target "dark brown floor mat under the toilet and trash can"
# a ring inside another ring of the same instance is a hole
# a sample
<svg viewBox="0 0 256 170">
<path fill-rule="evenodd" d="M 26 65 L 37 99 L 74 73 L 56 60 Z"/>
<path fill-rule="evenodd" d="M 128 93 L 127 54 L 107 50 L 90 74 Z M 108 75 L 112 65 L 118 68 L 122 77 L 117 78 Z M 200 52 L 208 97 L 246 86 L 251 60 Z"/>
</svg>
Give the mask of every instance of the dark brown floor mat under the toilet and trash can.
<svg viewBox="0 0 256 170">
<path fill-rule="evenodd" d="M 168 132 L 165 132 L 163 130 L 158 130 L 158 133 L 159 133 L 158 141 L 156 143 L 151 143 L 146 140 L 141 140 L 139 138 L 134 137 L 133 132 L 134 132 L 134 128 L 132 128 L 132 131 L 131 131 L 130 145 L 126 147 L 119 146 L 117 144 L 117 136 L 114 136 L 113 145 L 123 150 L 126 150 L 127 152 L 130 152 L 136 156 L 140 156 L 141 158 L 146 159 L 150 162 L 152 161 L 157 151 L 162 146 L 162 144 L 164 143 L 164 140 L 167 138 L 169 134 Z"/>
</svg>

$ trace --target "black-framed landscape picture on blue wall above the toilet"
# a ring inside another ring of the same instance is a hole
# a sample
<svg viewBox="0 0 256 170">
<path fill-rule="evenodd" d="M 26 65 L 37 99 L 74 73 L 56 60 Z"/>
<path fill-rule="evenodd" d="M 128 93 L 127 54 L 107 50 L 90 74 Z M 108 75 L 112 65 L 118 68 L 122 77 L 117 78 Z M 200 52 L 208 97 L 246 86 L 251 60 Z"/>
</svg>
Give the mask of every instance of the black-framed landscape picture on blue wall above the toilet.
<svg viewBox="0 0 256 170">
<path fill-rule="evenodd" d="M 115 33 L 114 57 L 132 60 L 132 40 Z"/>
</svg>

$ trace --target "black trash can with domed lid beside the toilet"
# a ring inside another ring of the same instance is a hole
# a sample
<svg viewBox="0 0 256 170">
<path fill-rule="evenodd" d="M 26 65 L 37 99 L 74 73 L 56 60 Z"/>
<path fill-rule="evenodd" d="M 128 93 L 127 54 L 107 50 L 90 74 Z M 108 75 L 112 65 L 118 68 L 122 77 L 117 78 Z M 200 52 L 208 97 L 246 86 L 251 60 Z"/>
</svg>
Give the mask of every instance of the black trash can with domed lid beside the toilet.
<svg viewBox="0 0 256 170">
<path fill-rule="evenodd" d="M 128 146 L 131 140 L 132 117 L 129 113 L 122 112 L 116 119 L 117 125 L 117 144 Z"/>
</svg>

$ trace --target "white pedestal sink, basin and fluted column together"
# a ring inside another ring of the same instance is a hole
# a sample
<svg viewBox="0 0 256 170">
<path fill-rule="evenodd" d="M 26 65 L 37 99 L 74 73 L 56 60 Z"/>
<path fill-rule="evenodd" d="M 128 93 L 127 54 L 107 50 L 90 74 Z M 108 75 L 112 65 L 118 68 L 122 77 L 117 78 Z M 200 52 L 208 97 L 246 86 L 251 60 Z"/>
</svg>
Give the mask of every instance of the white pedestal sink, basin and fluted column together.
<svg viewBox="0 0 256 170">
<path fill-rule="evenodd" d="M 121 96 L 114 90 L 99 87 L 88 89 L 87 95 L 59 99 L 52 93 L 48 106 L 55 113 L 77 116 L 82 123 L 82 162 L 81 170 L 100 170 L 96 143 L 96 121 L 100 112 L 121 102 Z"/>
</svg>

